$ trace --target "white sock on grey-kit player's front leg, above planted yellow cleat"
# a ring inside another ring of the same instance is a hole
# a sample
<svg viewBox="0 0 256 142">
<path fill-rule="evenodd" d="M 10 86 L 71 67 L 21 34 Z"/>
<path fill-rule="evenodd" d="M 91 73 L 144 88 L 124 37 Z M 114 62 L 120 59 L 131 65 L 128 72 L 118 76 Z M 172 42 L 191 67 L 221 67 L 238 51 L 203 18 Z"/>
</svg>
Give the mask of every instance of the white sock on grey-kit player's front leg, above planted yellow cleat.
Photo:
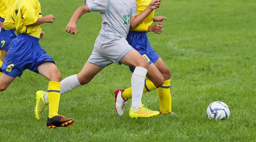
<svg viewBox="0 0 256 142">
<path fill-rule="evenodd" d="M 143 67 L 136 67 L 131 76 L 131 108 L 134 111 L 140 108 L 147 71 Z"/>
</svg>

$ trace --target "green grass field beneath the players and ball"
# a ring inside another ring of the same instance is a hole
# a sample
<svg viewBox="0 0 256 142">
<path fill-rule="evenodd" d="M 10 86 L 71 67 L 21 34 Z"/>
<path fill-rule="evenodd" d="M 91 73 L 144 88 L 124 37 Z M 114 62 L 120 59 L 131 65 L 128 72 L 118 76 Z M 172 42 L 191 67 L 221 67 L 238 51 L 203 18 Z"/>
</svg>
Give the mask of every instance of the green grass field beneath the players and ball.
<svg viewBox="0 0 256 142">
<path fill-rule="evenodd" d="M 85 14 L 76 36 L 65 28 L 83 0 L 41 0 L 44 24 L 41 47 L 53 57 L 62 78 L 78 73 L 90 56 L 101 28 L 99 13 Z M 0 141 L 256 141 L 256 1 L 163 0 L 155 16 L 166 16 L 162 34 L 148 33 L 152 47 L 172 71 L 172 110 L 178 116 L 131 119 L 129 106 L 119 117 L 113 91 L 131 85 L 125 65 L 110 65 L 89 84 L 61 96 L 59 114 L 76 121 L 68 128 L 48 129 L 48 109 L 34 116 L 35 92 L 48 80 L 24 71 L 0 93 Z M 225 102 L 226 121 L 209 121 L 207 106 Z M 160 110 L 157 91 L 143 103 Z"/>
</svg>

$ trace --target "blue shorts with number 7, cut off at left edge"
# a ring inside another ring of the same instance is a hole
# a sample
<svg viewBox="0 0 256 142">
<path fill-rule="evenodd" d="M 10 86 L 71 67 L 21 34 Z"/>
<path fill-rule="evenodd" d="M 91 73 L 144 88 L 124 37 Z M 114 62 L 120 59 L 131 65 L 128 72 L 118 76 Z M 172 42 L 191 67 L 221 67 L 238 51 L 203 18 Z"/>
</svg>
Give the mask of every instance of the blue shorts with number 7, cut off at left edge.
<svg viewBox="0 0 256 142">
<path fill-rule="evenodd" d="M 0 21 L 4 22 L 4 19 L 0 17 Z M 14 30 L 1 29 L 0 31 L 0 50 L 9 50 L 9 44 L 16 38 Z"/>
</svg>

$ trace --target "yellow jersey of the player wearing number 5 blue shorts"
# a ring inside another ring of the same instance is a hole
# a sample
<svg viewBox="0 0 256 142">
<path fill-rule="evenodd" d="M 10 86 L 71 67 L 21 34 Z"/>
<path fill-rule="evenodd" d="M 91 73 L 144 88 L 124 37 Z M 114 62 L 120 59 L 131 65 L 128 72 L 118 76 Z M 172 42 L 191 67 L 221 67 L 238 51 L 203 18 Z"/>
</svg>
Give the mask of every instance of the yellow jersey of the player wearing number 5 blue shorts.
<svg viewBox="0 0 256 142">
<path fill-rule="evenodd" d="M 16 28 L 17 34 L 28 34 L 39 38 L 41 25 L 28 25 L 36 23 L 41 17 L 41 6 L 38 0 L 16 0 L 6 15 L 4 27 L 6 30 Z"/>
</svg>

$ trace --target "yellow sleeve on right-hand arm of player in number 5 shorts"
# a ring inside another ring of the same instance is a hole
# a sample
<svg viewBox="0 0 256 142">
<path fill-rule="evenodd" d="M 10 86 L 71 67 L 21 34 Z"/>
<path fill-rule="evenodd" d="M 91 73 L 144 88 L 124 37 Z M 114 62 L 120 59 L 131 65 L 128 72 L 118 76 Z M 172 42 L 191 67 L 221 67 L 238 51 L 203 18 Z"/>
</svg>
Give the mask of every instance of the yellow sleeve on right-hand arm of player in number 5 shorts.
<svg viewBox="0 0 256 142">
<path fill-rule="evenodd" d="M 31 25 L 36 23 L 38 17 L 36 16 L 36 3 L 34 0 L 26 0 L 23 6 L 20 6 L 20 11 L 23 17 L 24 25 Z"/>
</svg>

